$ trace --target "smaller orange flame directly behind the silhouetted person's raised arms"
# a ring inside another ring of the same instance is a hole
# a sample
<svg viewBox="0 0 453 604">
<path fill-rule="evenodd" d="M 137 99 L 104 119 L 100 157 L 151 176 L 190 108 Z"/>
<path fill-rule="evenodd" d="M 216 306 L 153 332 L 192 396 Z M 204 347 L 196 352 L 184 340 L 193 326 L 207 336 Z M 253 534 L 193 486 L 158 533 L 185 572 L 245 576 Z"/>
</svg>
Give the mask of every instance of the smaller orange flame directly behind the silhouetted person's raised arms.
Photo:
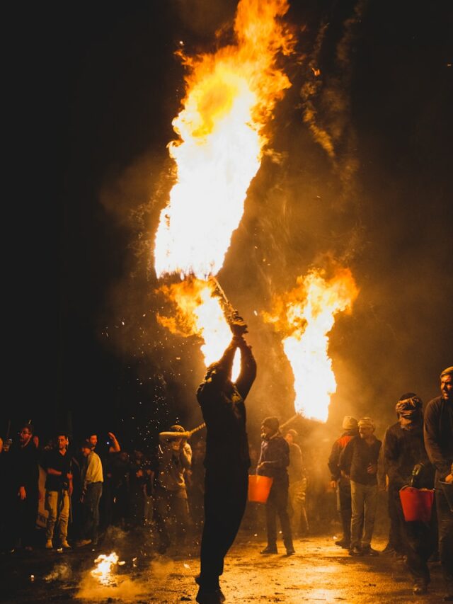
<svg viewBox="0 0 453 604">
<path fill-rule="evenodd" d="M 215 295 L 215 285 L 211 281 L 195 278 L 173 285 L 163 285 L 159 292 L 175 306 L 171 317 L 157 315 L 157 320 L 173 334 L 199 336 L 204 343 L 201 351 L 205 365 L 219 360 L 231 341 L 231 329 L 226 322 L 219 297 Z M 237 377 L 240 353 L 235 355 L 233 379 Z"/>
</svg>

